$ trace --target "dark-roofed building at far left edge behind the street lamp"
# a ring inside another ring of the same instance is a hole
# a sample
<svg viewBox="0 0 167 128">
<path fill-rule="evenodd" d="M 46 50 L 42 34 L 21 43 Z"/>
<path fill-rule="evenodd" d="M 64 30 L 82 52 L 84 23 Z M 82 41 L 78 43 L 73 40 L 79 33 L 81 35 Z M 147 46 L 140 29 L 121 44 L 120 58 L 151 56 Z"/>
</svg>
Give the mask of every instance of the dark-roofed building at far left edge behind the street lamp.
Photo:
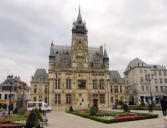
<svg viewBox="0 0 167 128">
<path fill-rule="evenodd" d="M 9 103 L 11 110 L 14 110 L 16 107 L 26 107 L 30 88 L 25 82 L 20 80 L 20 77 L 12 77 L 12 81 L 11 83 L 6 79 L 0 84 L 0 109 L 3 109 L 3 104 L 9 106 Z"/>
</svg>

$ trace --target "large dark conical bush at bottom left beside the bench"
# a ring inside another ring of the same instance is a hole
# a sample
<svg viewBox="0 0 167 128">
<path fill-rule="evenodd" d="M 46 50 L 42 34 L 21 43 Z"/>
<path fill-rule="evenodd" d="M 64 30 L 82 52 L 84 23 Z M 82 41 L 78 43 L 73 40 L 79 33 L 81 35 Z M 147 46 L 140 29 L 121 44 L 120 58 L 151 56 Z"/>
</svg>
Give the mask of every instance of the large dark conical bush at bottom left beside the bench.
<svg viewBox="0 0 167 128">
<path fill-rule="evenodd" d="M 40 122 L 39 122 L 36 111 L 32 110 L 28 119 L 27 119 L 26 128 L 33 128 L 33 127 L 38 128 L 38 127 L 40 127 L 39 123 Z"/>
</svg>

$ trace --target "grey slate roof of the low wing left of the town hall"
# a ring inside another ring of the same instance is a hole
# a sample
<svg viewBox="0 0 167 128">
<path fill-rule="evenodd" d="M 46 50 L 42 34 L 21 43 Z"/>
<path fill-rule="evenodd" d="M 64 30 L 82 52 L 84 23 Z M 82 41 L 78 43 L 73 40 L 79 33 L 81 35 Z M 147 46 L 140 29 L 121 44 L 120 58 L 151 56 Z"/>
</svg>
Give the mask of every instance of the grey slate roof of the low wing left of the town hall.
<svg viewBox="0 0 167 128">
<path fill-rule="evenodd" d="M 43 82 L 48 82 L 48 73 L 46 73 L 46 70 L 43 68 L 37 69 L 35 71 L 34 76 L 32 77 L 32 81 L 31 82 L 40 82 L 39 78 L 43 77 Z"/>
</svg>

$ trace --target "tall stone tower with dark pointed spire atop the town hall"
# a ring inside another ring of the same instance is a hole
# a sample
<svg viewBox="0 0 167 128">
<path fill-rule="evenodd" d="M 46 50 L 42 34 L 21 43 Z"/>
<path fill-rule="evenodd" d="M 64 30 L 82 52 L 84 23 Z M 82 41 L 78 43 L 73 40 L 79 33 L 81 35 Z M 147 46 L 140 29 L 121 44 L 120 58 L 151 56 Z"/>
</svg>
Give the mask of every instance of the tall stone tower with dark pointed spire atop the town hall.
<svg viewBox="0 0 167 128">
<path fill-rule="evenodd" d="M 86 23 L 82 21 L 80 8 L 77 20 L 73 22 L 71 52 L 72 52 L 71 61 L 73 68 L 88 67 L 87 28 L 86 28 Z"/>
</svg>

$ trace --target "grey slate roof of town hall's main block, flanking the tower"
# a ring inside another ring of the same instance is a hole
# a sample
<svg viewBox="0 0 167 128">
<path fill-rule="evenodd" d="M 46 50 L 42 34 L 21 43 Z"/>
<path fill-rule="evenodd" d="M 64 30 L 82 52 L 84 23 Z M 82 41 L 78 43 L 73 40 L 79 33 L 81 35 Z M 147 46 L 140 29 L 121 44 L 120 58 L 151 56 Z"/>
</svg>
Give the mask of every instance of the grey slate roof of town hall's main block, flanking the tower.
<svg viewBox="0 0 167 128">
<path fill-rule="evenodd" d="M 50 56 L 55 56 L 55 65 L 61 66 L 61 55 L 65 55 L 68 59 L 67 66 L 71 66 L 71 46 L 51 45 Z M 100 48 L 89 47 L 88 48 L 88 63 L 91 66 L 94 57 L 99 56 Z M 103 56 L 101 56 L 100 63 L 103 64 Z"/>
</svg>

